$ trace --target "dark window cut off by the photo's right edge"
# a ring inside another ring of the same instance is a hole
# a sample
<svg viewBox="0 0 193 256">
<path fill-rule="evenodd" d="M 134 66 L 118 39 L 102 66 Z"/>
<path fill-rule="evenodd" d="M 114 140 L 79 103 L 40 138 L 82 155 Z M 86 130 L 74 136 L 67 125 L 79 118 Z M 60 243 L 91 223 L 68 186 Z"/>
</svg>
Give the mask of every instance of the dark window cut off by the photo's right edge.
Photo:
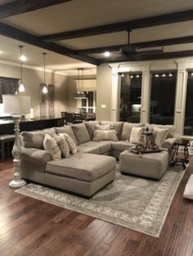
<svg viewBox="0 0 193 256">
<path fill-rule="evenodd" d="M 184 135 L 193 136 L 193 72 L 187 78 Z"/>
</svg>

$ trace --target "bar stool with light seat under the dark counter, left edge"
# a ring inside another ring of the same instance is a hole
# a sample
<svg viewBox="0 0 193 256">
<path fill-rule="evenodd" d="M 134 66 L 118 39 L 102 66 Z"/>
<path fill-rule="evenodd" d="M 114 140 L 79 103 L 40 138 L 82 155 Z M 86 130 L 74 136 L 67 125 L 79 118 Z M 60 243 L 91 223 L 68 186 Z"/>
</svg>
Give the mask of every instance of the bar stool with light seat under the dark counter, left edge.
<svg viewBox="0 0 193 256">
<path fill-rule="evenodd" d="M 2 161 L 5 159 L 5 156 L 9 156 L 11 148 L 10 148 L 10 142 L 15 141 L 15 135 L 14 134 L 3 134 L 0 135 L 0 152 L 1 152 L 1 159 Z"/>
</svg>

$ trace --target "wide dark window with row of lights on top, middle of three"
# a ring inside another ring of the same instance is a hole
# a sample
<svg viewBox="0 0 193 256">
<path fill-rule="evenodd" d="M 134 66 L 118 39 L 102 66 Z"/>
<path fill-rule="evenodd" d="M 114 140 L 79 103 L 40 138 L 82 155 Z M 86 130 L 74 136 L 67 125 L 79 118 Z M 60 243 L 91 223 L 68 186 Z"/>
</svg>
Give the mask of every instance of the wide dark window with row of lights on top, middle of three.
<svg viewBox="0 0 193 256">
<path fill-rule="evenodd" d="M 150 124 L 173 124 L 176 97 L 176 73 L 151 76 Z"/>
</svg>

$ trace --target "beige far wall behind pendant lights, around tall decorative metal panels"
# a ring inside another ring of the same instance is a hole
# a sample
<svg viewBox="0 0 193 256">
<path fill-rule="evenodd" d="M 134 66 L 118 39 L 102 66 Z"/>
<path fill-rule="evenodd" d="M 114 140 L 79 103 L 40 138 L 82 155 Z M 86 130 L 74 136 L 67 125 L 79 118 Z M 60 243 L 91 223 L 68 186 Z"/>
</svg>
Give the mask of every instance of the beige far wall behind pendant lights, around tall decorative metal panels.
<svg viewBox="0 0 193 256">
<path fill-rule="evenodd" d="M 20 67 L 0 63 L 0 76 L 20 79 Z M 55 85 L 55 114 L 61 116 L 61 111 L 68 110 L 68 77 L 61 74 L 47 72 L 47 83 Z M 31 97 L 31 107 L 34 116 L 39 116 L 39 84 L 43 83 L 43 71 L 23 69 L 25 92 L 23 95 Z"/>
</svg>

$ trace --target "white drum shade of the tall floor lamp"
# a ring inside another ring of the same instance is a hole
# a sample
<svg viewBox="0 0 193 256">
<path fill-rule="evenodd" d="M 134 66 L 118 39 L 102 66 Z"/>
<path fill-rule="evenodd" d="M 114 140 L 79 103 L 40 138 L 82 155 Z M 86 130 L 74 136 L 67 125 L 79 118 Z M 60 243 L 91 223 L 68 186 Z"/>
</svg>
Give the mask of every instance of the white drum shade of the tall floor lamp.
<svg viewBox="0 0 193 256">
<path fill-rule="evenodd" d="M 30 112 L 30 97 L 16 94 L 2 95 L 3 111 L 7 114 L 28 114 Z"/>
</svg>

